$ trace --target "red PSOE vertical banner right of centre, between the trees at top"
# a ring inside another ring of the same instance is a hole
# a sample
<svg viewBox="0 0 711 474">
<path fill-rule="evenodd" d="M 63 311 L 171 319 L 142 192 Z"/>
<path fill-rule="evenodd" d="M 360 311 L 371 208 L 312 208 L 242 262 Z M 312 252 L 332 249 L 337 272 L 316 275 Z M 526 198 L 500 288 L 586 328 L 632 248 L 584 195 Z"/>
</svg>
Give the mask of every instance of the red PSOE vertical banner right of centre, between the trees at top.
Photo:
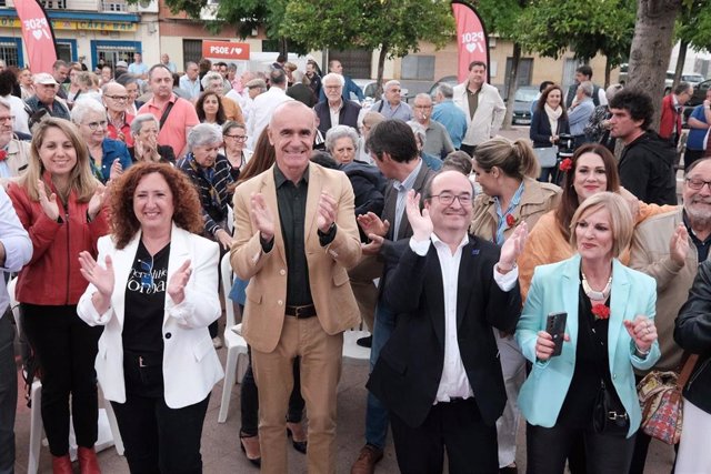
<svg viewBox="0 0 711 474">
<path fill-rule="evenodd" d="M 487 82 L 489 82 L 489 37 L 479 13 L 469 3 L 452 2 L 454 21 L 457 22 L 457 50 L 459 68 L 457 77 L 464 82 L 469 75 L 469 64 L 482 61 L 487 64 Z"/>
</svg>

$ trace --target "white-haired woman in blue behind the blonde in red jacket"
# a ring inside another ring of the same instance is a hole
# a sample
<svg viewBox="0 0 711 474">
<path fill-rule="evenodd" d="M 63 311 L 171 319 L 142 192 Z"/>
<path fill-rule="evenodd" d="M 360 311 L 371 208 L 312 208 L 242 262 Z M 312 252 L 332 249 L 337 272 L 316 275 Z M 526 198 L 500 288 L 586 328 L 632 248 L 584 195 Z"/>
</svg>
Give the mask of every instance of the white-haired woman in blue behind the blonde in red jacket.
<svg viewBox="0 0 711 474">
<path fill-rule="evenodd" d="M 79 99 L 71 109 L 71 121 L 87 143 L 91 169 L 102 183 L 118 178 L 131 165 L 126 143 L 106 137 L 109 121 L 101 103 L 93 99 Z"/>
</svg>

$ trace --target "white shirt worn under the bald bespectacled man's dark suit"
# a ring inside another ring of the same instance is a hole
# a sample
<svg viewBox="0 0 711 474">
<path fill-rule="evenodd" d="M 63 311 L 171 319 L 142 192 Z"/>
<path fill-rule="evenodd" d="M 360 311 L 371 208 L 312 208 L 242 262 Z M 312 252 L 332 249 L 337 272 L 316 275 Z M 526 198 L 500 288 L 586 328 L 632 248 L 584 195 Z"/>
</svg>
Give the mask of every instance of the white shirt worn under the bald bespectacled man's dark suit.
<svg viewBox="0 0 711 474">
<path fill-rule="evenodd" d="M 421 242 L 415 241 L 414 236 L 410 238 L 410 249 L 418 255 L 424 256 L 430 250 L 430 242 L 437 249 L 437 256 L 442 270 L 442 288 L 444 289 L 444 365 L 442 366 L 442 377 L 433 403 L 437 404 L 439 402 L 449 402 L 451 399 L 474 396 L 457 340 L 457 283 L 459 264 L 462 260 L 462 249 L 469 243 L 469 235 L 464 233 L 453 255 L 449 245 L 442 242 L 434 233 L 429 240 Z M 493 280 L 501 291 L 511 291 L 515 286 L 518 279 L 519 270 L 517 266 L 507 274 L 499 273 L 497 265 L 493 266 Z"/>
</svg>

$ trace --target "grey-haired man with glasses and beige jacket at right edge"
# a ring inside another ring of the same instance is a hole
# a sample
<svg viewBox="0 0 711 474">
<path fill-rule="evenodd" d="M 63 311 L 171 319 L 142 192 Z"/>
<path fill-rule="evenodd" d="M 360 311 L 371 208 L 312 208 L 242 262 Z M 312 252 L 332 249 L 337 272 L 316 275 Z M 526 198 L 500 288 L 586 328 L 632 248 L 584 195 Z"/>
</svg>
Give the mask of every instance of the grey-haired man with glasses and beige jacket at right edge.
<svg viewBox="0 0 711 474">
<path fill-rule="evenodd" d="M 674 320 L 711 248 L 711 159 L 689 167 L 681 195 L 682 206 L 637 226 L 630 253 L 630 266 L 657 280 L 654 325 L 662 356 L 654 371 L 679 371 L 681 366 L 683 350 L 674 342 Z M 638 372 L 637 382 L 647 373 Z M 637 432 L 630 474 L 644 472 L 650 441 L 642 430 Z"/>
</svg>

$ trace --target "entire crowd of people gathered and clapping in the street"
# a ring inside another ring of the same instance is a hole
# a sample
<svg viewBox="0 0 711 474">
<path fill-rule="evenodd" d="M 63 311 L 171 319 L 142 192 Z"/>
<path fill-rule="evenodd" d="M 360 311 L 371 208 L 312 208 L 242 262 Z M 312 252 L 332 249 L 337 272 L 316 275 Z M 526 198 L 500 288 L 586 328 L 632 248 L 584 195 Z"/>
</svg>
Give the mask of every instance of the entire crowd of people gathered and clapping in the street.
<svg viewBox="0 0 711 474">
<path fill-rule="evenodd" d="M 70 423 L 81 473 L 101 471 L 98 384 L 131 472 L 202 472 L 222 258 L 249 344 L 236 438 L 266 473 L 289 471 L 288 436 L 309 472 L 336 472 L 343 332 L 361 321 L 352 474 L 375 472 L 389 427 L 403 473 L 442 472 L 444 453 L 452 473 L 515 473 L 522 417 L 529 473 L 642 473 L 637 384 L 689 354 L 675 472 L 709 472 L 711 95 L 677 205 L 684 83 L 653 131 L 647 93 L 583 65 L 567 91 L 541 85 L 531 140 L 512 142 L 479 61 L 412 105 L 388 81 L 365 108 L 338 60 L 131 59 L 0 63 L 0 266 L 21 322 L 0 316 L 0 472 L 16 331 L 54 473 L 72 472 Z"/>
</svg>

